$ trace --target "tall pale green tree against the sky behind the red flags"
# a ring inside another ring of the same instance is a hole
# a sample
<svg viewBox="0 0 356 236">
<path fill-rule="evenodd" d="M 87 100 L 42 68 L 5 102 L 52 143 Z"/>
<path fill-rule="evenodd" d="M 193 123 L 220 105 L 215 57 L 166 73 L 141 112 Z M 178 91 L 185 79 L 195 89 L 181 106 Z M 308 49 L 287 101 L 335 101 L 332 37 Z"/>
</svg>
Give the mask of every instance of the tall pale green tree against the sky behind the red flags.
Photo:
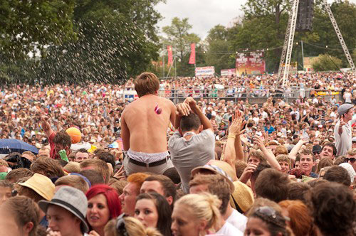
<svg viewBox="0 0 356 236">
<path fill-rule="evenodd" d="M 194 75 L 194 66 L 189 65 L 190 45 L 199 43 L 200 38 L 195 33 L 189 33 L 192 25 L 189 24 L 188 18 L 182 20 L 174 17 L 170 26 L 162 28 L 166 37 L 162 38 L 163 45 L 175 45 L 177 50 L 177 75 Z M 197 49 L 199 45 L 197 45 Z M 198 50 L 197 50 L 198 51 Z M 198 55 L 198 53 L 197 53 Z"/>
</svg>

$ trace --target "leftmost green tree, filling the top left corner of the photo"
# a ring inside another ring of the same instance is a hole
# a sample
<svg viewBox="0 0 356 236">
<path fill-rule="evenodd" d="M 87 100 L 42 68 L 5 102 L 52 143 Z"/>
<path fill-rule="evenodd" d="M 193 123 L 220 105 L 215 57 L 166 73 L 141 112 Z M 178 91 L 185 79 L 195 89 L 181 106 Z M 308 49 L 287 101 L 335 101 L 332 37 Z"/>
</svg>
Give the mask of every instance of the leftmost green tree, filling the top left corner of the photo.
<svg viewBox="0 0 356 236">
<path fill-rule="evenodd" d="M 75 38 L 75 0 L 0 1 L 0 50 L 14 59 Z"/>
</svg>

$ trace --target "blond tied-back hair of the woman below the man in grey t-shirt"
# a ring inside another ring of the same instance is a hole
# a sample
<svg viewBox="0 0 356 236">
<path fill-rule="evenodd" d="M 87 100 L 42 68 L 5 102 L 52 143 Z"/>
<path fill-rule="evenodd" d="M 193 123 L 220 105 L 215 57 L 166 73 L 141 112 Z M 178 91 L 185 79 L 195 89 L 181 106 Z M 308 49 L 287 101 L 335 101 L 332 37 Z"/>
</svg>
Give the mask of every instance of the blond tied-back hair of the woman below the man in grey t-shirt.
<svg viewBox="0 0 356 236">
<path fill-rule="evenodd" d="M 183 208 L 189 209 L 190 213 L 198 220 L 206 220 L 206 230 L 219 228 L 221 200 L 216 195 L 210 193 L 187 194 L 174 203 L 174 209 L 179 205 L 184 205 Z"/>
</svg>

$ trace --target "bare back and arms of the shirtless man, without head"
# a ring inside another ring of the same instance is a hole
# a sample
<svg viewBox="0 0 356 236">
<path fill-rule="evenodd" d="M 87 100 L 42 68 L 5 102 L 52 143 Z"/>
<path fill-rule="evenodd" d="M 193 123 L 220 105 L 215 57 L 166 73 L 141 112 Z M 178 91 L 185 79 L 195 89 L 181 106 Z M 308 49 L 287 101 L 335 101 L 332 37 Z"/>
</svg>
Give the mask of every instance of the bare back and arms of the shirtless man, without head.
<svg viewBox="0 0 356 236">
<path fill-rule="evenodd" d="M 160 114 L 155 112 L 157 105 L 162 109 Z M 147 154 L 167 151 L 167 127 L 174 117 L 173 102 L 163 97 L 145 95 L 132 102 L 122 112 L 124 149 Z"/>
</svg>

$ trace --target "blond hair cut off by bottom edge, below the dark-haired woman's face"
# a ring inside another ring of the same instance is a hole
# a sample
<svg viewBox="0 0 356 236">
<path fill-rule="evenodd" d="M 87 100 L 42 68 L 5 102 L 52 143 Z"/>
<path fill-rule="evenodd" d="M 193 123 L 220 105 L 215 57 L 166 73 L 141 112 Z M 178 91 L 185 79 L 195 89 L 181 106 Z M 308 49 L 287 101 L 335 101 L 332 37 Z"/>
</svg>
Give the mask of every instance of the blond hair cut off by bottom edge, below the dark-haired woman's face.
<svg viewBox="0 0 356 236">
<path fill-rule="evenodd" d="M 125 228 L 129 236 L 162 236 L 161 233 L 152 227 L 145 228 L 140 220 L 127 216 L 124 218 Z M 122 232 L 117 232 L 117 219 L 112 219 L 105 225 L 105 235 L 124 236 Z"/>
</svg>

